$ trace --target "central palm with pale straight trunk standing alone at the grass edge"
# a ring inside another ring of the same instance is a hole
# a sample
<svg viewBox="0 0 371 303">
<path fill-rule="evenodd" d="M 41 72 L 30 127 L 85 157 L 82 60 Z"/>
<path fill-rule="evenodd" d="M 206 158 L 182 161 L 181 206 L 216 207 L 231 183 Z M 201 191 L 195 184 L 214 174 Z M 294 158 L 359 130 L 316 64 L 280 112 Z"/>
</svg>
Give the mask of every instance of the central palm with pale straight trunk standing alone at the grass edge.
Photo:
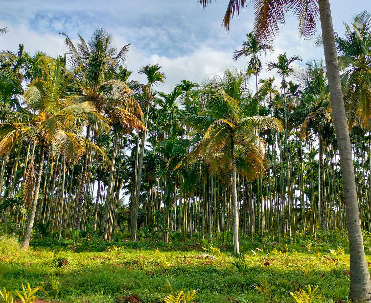
<svg viewBox="0 0 371 303">
<path fill-rule="evenodd" d="M 220 78 L 211 79 L 201 90 L 205 103 L 204 115 L 189 115 L 184 120 L 190 126 L 200 122 L 207 126 L 196 150 L 205 159 L 216 162 L 216 167 L 224 166 L 227 171 L 232 171 L 234 252 L 239 251 L 236 158 L 253 159 L 253 163 L 245 162 L 244 170 L 245 174 L 249 172 L 250 176 L 256 177 L 263 169 L 265 142 L 254 131 L 282 128 L 282 123 L 276 118 L 246 115 L 244 105 L 250 95 L 248 80 L 249 77 L 242 72 L 224 70 Z"/>
</svg>

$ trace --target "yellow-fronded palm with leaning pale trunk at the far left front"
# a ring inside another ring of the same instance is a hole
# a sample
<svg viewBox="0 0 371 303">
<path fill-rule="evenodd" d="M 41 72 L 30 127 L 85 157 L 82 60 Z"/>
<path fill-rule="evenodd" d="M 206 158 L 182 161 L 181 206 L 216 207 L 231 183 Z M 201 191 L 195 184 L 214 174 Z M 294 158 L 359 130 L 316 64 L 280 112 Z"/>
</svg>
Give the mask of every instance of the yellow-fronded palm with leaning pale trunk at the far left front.
<svg viewBox="0 0 371 303">
<path fill-rule="evenodd" d="M 69 98 L 67 88 L 71 83 L 72 73 L 66 70 L 65 62 L 49 57 L 40 58 L 42 78 L 33 79 L 23 93 L 25 108 L 17 112 L 3 109 L 1 124 L 0 153 L 4 155 L 13 146 L 19 144 L 23 137 L 37 142 L 40 148 L 39 166 L 36 176 L 25 181 L 26 192 L 24 200 L 32 200 L 32 188 L 35 182 L 35 192 L 31 204 L 27 231 L 23 238 L 23 247 L 28 248 L 35 220 L 37 200 L 39 198 L 40 181 L 43 171 L 45 152 L 50 149 L 52 157 L 59 153 L 69 161 L 81 158 L 86 150 L 94 150 L 106 159 L 105 154 L 81 134 L 79 125 L 90 115 L 96 115 L 95 106 L 91 102 L 78 103 Z M 97 115 L 96 115 L 97 116 Z M 29 170 L 33 171 L 33 159 Z"/>
</svg>

